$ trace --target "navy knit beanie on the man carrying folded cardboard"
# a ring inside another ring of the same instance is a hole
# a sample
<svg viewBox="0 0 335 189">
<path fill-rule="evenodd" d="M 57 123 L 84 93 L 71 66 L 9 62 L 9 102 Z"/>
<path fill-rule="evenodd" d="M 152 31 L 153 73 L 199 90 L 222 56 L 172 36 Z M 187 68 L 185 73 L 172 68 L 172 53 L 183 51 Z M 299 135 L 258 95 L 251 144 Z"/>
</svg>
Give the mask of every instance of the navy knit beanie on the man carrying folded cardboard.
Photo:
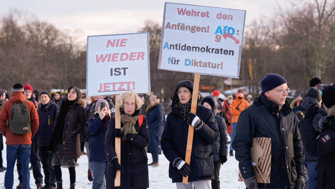
<svg viewBox="0 0 335 189">
<path fill-rule="evenodd" d="M 261 81 L 262 93 L 270 91 L 284 83 L 287 83 L 285 78 L 277 74 L 267 74 Z"/>
</svg>

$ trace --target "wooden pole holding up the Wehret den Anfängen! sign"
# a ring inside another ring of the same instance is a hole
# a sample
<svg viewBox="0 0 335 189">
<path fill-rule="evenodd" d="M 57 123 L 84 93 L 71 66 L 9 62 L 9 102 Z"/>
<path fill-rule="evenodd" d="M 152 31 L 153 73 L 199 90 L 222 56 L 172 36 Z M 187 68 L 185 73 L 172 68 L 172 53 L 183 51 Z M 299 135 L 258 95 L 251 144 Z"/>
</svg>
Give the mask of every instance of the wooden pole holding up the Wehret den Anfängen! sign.
<svg viewBox="0 0 335 189">
<path fill-rule="evenodd" d="M 197 104 L 198 104 L 198 90 L 199 90 L 199 81 L 200 81 L 200 74 L 194 75 L 194 82 L 193 82 L 193 92 L 192 92 L 192 104 L 191 104 L 191 112 L 196 113 Z M 189 131 L 187 136 L 187 145 L 186 145 L 186 155 L 185 155 L 185 162 L 190 164 L 191 162 L 191 152 L 192 152 L 192 143 L 193 143 L 193 133 L 194 128 L 189 125 Z M 183 178 L 183 183 L 187 184 L 188 176 Z"/>
</svg>

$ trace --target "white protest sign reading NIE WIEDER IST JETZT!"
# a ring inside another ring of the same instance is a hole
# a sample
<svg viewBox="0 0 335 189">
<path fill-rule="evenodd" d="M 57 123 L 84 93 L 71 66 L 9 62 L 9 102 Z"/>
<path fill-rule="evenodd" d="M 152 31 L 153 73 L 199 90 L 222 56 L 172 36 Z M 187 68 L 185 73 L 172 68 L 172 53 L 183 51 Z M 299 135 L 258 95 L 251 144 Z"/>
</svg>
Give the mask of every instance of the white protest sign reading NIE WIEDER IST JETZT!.
<svg viewBox="0 0 335 189">
<path fill-rule="evenodd" d="M 149 33 L 87 36 L 87 96 L 150 93 Z"/>
</svg>

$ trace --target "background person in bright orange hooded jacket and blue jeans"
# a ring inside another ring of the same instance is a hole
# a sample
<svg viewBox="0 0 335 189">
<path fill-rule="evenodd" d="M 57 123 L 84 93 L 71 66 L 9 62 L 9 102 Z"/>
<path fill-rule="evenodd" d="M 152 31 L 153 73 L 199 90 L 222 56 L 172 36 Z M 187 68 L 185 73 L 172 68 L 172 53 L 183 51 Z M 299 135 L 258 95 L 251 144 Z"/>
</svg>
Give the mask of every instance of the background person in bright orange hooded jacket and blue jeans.
<svg viewBox="0 0 335 189">
<path fill-rule="evenodd" d="M 230 135 L 230 141 L 232 141 L 236 135 L 236 124 L 241 112 L 249 106 L 249 102 L 244 99 L 244 90 L 239 89 L 235 94 L 236 99 L 231 102 L 231 112 L 232 112 L 232 134 Z M 233 156 L 233 147 L 230 143 L 230 156 Z"/>
</svg>

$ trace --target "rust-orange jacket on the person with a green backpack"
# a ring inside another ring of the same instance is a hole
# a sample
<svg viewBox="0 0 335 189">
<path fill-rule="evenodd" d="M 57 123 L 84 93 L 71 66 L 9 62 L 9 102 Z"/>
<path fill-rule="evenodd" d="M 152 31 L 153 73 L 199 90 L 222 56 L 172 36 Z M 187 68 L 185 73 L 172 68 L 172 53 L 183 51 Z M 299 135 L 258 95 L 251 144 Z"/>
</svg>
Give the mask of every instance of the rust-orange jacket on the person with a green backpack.
<svg viewBox="0 0 335 189">
<path fill-rule="evenodd" d="M 10 120 L 10 112 L 12 106 L 14 105 L 13 102 L 21 103 L 23 102 L 25 97 L 23 96 L 22 92 L 15 91 L 11 96 L 10 99 L 5 102 L 0 111 L 0 131 L 3 136 L 6 137 L 6 144 L 7 145 L 15 145 L 15 144 L 31 144 L 31 138 L 35 135 L 38 127 L 39 127 L 39 116 L 36 111 L 35 104 L 31 101 L 27 101 L 25 104 L 28 106 L 30 112 L 30 123 L 31 123 L 31 132 L 26 134 L 14 134 L 8 128 L 6 132 L 7 124 L 6 122 Z"/>
</svg>

